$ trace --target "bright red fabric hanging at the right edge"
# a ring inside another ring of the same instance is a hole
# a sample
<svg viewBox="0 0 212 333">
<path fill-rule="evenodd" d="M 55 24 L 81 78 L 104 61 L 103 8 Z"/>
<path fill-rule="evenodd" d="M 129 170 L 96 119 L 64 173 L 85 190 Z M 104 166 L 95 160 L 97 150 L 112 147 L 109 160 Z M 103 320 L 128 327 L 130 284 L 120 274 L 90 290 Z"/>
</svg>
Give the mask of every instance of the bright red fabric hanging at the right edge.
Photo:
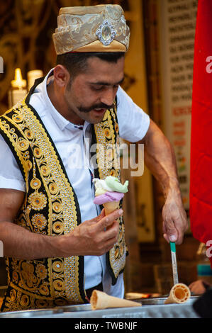
<svg viewBox="0 0 212 333">
<path fill-rule="evenodd" d="M 211 59 L 208 58 L 211 56 Z M 208 60 L 208 62 L 206 61 Z M 191 231 L 212 239 L 212 1 L 199 0 L 191 113 Z"/>
</svg>

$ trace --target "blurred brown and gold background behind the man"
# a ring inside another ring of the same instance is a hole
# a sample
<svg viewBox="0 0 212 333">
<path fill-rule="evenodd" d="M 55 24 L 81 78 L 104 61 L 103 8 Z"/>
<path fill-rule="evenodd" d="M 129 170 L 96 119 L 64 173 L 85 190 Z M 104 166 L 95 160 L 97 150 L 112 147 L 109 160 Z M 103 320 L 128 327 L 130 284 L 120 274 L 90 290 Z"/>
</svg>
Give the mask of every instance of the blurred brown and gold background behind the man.
<svg viewBox="0 0 212 333">
<path fill-rule="evenodd" d="M 160 126 L 174 146 L 179 181 L 189 220 L 189 159 L 191 95 L 197 0 L 7 0 L 0 6 L 0 114 L 9 108 L 9 90 L 16 68 L 43 74 L 55 66 L 52 33 L 63 6 L 120 4 L 130 26 L 123 89 Z M 28 82 L 29 83 L 29 82 Z M 27 87 L 28 89 L 28 87 Z M 1 166 L 0 166 L 1 167 Z M 125 269 L 126 293 L 169 293 L 172 264 L 169 244 L 162 237 L 164 198 L 157 181 L 123 169 L 130 180 L 125 196 L 125 229 L 130 256 Z M 179 281 L 197 278 L 199 242 L 188 230 L 177 246 Z M 6 286 L 4 259 L 0 288 Z"/>
</svg>

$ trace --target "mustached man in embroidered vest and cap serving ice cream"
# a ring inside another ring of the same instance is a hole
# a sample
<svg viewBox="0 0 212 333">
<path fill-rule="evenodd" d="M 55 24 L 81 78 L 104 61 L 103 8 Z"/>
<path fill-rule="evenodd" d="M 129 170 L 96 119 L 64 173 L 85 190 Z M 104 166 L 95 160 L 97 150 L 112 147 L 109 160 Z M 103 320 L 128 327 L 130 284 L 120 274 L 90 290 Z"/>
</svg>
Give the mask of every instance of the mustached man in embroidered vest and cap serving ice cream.
<svg viewBox="0 0 212 333">
<path fill-rule="evenodd" d="M 94 288 L 123 297 L 123 211 L 105 216 L 92 184 L 94 176 L 120 176 L 100 166 L 106 152 L 98 149 L 118 145 L 119 135 L 145 144 L 164 191 L 167 242 L 182 243 L 186 230 L 172 147 L 119 86 L 129 42 L 121 7 L 60 9 L 53 40 L 57 66 L 0 120 L 0 239 L 9 272 L 2 311 L 84 303 Z M 97 167 L 88 158 L 94 144 Z"/>
</svg>

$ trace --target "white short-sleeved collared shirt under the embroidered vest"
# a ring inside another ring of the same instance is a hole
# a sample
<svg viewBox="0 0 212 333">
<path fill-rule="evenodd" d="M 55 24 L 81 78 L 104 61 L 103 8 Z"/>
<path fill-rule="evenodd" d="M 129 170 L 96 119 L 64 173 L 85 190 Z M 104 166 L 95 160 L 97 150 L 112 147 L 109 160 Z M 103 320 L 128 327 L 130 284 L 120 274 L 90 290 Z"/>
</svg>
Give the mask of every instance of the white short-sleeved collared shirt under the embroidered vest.
<svg viewBox="0 0 212 333">
<path fill-rule="evenodd" d="M 52 72 L 52 69 L 50 72 Z M 57 152 L 60 154 L 62 163 L 67 171 L 69 181 L 77 195 L 81 219 L 84 222 L 95 218 L 100 213 L 99 206 L 93 202 L 94 186 L 91 181 L 91 175 L 94 170 L 88 158 L 88 140 L 91 138 L 91 125 L 87 121 L 82 126 L 74 125 L 55 109 L 47 92 L 47 79 L 50 76 L 50 72 L 45 77 L 45 80 L 36 87 L 30 97 L 30 105 L 40 115 L 45 128 L 55 143 Z M 121 87 L 118 88 L 117 98 L 120 137 L 130 142 L 137 142 L 143 139 L 150 125 L 149 116 L 133 103 L 132 99 Z M 76 149 L 80 149 L 82 152 L 82 156 L 80 155 L 82 159 L 76 159 L 77 156 L 79 157 L 79 154 L 75 154 Z M 0 188 L 13 188 L 25 191 L 25 181 L 16 159 L 1 135 L 0 165 Z M 111 276 L 106 269 L 105 255 L 84 256 L 84 288 L 89 289 L 97 286 L 101 281 L 106 293 L 123 297 L 123 274 L 118 277 L 116 285 L 111 286 Z"/>
</svg>

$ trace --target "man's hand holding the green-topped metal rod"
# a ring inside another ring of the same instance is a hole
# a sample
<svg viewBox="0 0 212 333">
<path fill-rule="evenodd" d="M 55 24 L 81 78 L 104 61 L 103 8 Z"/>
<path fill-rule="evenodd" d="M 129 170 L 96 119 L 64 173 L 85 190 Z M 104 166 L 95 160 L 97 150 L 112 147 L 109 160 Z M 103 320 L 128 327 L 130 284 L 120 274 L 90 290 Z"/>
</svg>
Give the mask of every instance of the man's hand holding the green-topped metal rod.
<svg viewBox="0 0 212 333">
<path fill-rule="evenodd" d="M 179 189 L 173 187 L 169 191 L 162 209 L 162 219 L 164 239 L 182 244 L 188 222 Z"/>
</svg>

